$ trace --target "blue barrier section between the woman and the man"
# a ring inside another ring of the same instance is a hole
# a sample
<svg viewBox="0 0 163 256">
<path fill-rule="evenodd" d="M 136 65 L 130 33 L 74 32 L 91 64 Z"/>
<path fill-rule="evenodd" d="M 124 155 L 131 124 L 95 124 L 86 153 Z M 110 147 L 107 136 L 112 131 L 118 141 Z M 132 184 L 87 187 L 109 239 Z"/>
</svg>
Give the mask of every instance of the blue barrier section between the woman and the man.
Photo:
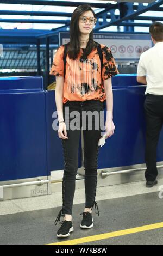
<svg viewBox="0 0 163 256">
<path fill-rule="evenodd" d="M 99 150 L 98 168 L 145 163 L 146 123 L 143 104 L 146 86 L 136 85 L 134 74 L 115 76 L 112 84 L 115 132 Z M 158 144 L 157 161 L 163 161 L 163 131 Z"/>
</svg>

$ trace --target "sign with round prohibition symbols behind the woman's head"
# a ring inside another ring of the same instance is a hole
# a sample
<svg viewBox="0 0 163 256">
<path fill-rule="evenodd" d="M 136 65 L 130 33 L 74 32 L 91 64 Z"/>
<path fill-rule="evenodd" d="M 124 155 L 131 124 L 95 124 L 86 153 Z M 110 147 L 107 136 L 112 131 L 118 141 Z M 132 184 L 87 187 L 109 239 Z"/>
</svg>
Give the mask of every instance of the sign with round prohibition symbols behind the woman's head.
<svg viewBox="0 0 163 256">
<path fill-rule="evenodd" d="M 116 60 L 139 60 L 152 47 L 149 34 L 95 33 L 94 40 L 110 48 Z M 69 33 L 59 33 L 59 44 L 70 41 Z"/>
</svg>

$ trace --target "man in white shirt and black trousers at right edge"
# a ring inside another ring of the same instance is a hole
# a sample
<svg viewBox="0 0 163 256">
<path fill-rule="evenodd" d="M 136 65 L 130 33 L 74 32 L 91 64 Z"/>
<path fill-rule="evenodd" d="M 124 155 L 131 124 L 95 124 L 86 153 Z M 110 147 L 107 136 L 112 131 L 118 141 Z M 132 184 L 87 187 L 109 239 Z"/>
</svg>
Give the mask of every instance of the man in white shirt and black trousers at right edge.
<svg viewBox="0 0 163 256">
<path fill-rule="evenodd" d="M 163 125 L 163 24 L 154 22 L 149 27 L 154 47 L 143 52 L 137 67 L 137 82 L 147 84 L 146 115 L 146 150 L 147 169 L 146 187 L 157 184 L 156 149 Z"/>
</svg>

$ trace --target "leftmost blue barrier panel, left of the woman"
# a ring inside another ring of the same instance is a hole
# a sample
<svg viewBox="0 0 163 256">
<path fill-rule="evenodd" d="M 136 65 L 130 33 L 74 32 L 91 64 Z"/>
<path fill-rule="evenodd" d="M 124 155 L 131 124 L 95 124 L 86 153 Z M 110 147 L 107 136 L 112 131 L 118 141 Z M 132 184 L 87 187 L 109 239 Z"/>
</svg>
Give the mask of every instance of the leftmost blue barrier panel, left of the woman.
<svg viewBox="0 0 163 256">
<path fill-rule="evenodd" d="M 0 181 L 47 176 L 42 77 L 0 78 Z"/>
</svg>

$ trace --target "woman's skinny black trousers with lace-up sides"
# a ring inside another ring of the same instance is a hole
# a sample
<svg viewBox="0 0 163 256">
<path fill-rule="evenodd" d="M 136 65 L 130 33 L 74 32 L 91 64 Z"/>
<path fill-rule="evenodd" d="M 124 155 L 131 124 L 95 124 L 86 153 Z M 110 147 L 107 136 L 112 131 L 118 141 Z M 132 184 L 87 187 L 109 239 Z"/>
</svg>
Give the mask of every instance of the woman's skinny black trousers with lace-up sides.
<svg viewBox="0 0 163 256">
<path fill-rule="evenodd" d="M 69 107 L 69 112 L 78 111 L 80 113 L 80 130 L 67 130 L 68 139 L 62 139 L 64 149 L 64 177 L 62 180 L 62 214 L 72 214 L 73 197 L 75 191 L 75 180 L 78 170 L 78 149 L 81 127 L 84 125 L 82 119 L 83 111 L 103 111 L 103 103 L 98 100 L 67 101 L 64 104 L 63 113 L 65 117 L 65 107 Z M 103 112 L 102 112 L 103 113 Z M 74 118 L 66 115 L 66 129 L 68 124 Z M 98 120 L 99 121 L 99 120 Z M 83 130 L 84 136 L 84 167 L 85 167 L 85 208 L 91 208 L 95 203 L 96 186 L 97 186 L 97 159 L 98 159 L 98 141 L 101 138 L 101 131 L 95 130 L 95 118 L 92 118 L 92 130 L 88 129 L 88 119 L 86 119 L 86 130 Z M 103 126 L 104 127 L 104 126 Z"/>
</svg>

